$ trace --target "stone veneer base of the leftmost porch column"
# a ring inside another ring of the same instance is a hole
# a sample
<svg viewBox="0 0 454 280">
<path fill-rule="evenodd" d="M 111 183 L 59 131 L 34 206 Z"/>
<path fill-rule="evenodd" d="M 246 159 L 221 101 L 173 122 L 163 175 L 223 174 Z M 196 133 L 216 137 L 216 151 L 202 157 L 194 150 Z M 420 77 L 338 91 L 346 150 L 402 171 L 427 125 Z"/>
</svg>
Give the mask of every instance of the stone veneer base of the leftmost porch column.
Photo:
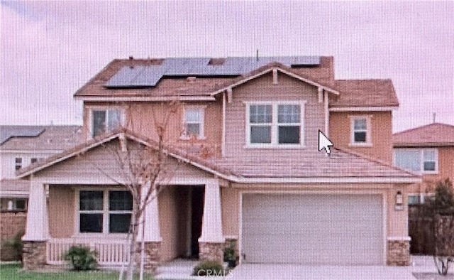
<svg viewBox="0 0 454 280">
<path fill-rule="evenodd" d="M 43 269 L 47 260 L 45 241 L 23 241 L 23 268 L 26 270 Z"/>
</svg>

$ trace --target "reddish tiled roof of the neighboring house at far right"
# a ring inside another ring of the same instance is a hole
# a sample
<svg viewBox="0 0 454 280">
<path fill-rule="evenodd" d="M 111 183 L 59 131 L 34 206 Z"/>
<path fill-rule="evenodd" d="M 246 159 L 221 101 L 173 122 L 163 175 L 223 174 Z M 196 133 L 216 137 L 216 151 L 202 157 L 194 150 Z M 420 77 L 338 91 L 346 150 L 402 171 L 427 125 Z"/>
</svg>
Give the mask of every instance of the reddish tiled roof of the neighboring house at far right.
<svg viewBox="0 0 454 280">
<path fill-rule="evenodd" d="M 454 126 L 433 123 L 392 135 L 394 147 L 454 146 Z"/>
</svg>

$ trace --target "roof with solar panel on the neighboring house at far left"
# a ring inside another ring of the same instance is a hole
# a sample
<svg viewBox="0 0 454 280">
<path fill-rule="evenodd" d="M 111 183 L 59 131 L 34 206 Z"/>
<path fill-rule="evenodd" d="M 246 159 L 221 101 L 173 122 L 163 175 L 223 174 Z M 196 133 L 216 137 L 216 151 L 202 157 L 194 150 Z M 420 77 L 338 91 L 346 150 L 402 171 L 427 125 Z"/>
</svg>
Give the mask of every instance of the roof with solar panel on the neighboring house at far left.
<svg viewBox="0 0 454 280">
<path fill-rule="evenodd" d="M 82 141 L 82 126 L 0 126 L 1 151 L 64 151 Z"/>
</svg>

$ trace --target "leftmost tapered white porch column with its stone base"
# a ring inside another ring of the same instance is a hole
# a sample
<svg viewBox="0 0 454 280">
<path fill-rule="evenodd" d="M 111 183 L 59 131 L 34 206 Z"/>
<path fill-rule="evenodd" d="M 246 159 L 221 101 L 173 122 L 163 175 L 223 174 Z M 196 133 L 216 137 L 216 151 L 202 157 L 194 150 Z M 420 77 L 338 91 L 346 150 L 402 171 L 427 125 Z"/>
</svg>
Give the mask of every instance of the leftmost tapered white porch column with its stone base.
<svg viewBox="0 0 454 280">
<path fill-rule="evenodd" d="M 23 240 L 23 267 L 28 270 L 43 268 L 47 261 L 46 242 L 49 238 L 48 205 L 45 185 L 30 181 L 26 234 Z"/>
</svg>

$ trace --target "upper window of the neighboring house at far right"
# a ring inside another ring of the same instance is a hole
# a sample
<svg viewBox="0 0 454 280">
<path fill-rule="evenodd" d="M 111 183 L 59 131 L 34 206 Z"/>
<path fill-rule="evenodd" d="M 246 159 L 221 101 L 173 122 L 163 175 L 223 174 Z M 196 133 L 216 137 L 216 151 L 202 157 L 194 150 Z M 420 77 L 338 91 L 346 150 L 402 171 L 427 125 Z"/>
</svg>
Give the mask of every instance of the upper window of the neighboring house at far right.
<svg viewBox="0 0 454 280">
<path fill-rule="evenodd" d="M 394 164 L 419 173 L 438 172 L 436 149 L 394 149 Z"/>
</svg>

